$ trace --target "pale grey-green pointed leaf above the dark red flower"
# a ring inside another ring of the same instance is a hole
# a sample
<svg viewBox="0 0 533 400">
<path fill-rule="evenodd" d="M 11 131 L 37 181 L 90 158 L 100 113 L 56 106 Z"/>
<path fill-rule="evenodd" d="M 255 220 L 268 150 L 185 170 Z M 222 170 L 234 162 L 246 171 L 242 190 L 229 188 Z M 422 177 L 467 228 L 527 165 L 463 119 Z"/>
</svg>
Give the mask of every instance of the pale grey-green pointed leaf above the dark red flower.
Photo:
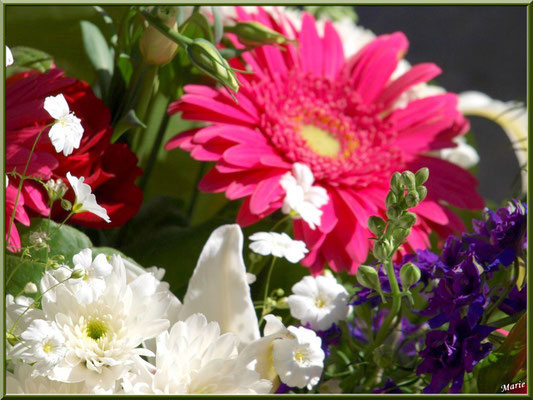
<svg viewBox="0 0 533 400">
<path fill-rule="evenodd" d="M 103 97 L 106 98 L 113 76 L 113 51 L 95 24 L 84 20 L 80 26 L 85 53 L 96 70 Z"/>
</svg>

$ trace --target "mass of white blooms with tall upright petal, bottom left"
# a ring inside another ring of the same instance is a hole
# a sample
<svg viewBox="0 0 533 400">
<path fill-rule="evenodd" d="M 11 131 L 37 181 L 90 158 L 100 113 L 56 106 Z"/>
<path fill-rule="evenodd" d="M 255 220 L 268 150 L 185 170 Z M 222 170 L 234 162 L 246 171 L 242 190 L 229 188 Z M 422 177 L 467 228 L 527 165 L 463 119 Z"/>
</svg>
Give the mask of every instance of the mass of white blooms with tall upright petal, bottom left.
<svg viewBox="0 0 533 400">
<path fill-rule="evenodd" d="M 261 394 L 315 386 L 321 339 L 267 315 L 261 337 L 237 225 L 207 241 L 183 304 L 119 255 L 84 249 L 47 271 L 38 302 L 6 298 L 7 392 Z"/>
</svg>

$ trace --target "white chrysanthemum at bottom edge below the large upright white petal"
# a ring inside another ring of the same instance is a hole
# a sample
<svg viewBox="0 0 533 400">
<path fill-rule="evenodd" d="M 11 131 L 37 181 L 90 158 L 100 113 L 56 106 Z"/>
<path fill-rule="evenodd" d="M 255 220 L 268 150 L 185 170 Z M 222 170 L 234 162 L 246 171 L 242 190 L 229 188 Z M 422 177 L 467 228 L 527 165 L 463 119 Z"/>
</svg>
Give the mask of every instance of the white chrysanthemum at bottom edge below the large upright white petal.
<svg viewBox="0 0 533 400">
<path fill-rule="evenodd" d="M 157 338 L 155 369 L 140 368 L 124 379 L 129 394 L 258 394 L 271 382 L 238 358 L 238 338 L 220 335 L 202 314 L 178 321 Z"/>
</svg>

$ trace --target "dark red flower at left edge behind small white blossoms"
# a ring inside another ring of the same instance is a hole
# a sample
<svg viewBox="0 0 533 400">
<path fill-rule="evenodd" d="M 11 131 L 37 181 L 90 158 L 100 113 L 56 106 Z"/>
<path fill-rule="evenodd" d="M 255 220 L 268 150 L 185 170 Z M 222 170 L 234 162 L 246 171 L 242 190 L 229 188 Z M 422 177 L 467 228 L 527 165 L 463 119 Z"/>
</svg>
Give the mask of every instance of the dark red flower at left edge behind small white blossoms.
<svg viewBox="0 0 533 400">
<path fill-rule="evenodd" d="M 7 80 L 6 86 L 6 171 L 16 169 L 19 173 L 23 172 L 37 135 L 53 121 L 43 108 L 44 99 L 62 93 L 70 110 L 81 119 L 84 134 L 80 147 L 68 157 L 57 153 L 46 128 L 35 147 L 27 175 L 41 177 L 45 181 L 60 178 L 67 185 L 65 176 L 69 171 L 74 176 L 85 177 L 98 204 L 107 210 L 111 223 L 91 213 L 75 214 L 70 219 L 74 223 L 92 228 L 113 228 L 133 217 L 142 203 L 142 191 L 135 185 L 135 179 L 142 170 L 137 167 L 137 157 L 125 144 L 110 143 L 111 115 L 89 85 L 67 78 L 63 71 L 53 69 L 46 74 L 32 71 L 14 75 Z M 6 190 L 6 230 L 17 187 L 18 180 L 10 177 Z M 74 200 L 72 190 L 67 192 L 66 198 Z M 46 192 L 40 184 L 26 181 L 15 219 L 28 225 L 27 211 L 48 215 L 47 201 Z M 52 216 L 61 219 L 66 214 L 57 204 Z M 20 246 L 17 238 L 18 234 L 12 232 L 11 246 Z"/>
</svg>

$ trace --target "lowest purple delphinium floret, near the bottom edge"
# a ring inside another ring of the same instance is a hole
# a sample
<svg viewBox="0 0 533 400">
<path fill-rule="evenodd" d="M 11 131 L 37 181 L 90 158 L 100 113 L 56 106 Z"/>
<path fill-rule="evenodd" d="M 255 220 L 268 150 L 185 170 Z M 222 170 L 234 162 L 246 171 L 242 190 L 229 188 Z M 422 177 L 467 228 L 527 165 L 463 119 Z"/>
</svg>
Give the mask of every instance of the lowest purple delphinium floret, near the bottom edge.
<svg viewBox="0 0 533 400">
<path fill-rule="evenodd" d="M 474 327 L 466 318 L 455 313 L 447 331 L 435 330 L 426 335 L 426 347 L 420 352 L 423 358 L 417 374 L 432 374 L 425 393 L 440 393 L 450 382 L 449 392 L 459 393 L 465 372 L 485 358 L 493 348 L 482 341 L 495 328 L 483 325 Z"/>
</svg>

